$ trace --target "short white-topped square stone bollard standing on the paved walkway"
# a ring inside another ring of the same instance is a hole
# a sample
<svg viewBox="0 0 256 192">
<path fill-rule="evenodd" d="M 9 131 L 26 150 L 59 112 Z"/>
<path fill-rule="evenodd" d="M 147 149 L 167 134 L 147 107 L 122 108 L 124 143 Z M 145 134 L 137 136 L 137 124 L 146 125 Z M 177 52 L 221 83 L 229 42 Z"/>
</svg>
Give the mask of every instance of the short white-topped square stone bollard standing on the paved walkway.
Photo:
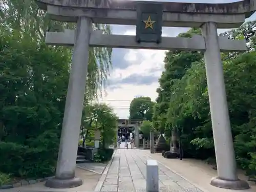
<svg viewBox="0 0 256 192">
<path fill-rule="evenodd" d="M 156 160 L 146 161 L 146 192 L 158 192 L 158 164 Z"/>
</svg>

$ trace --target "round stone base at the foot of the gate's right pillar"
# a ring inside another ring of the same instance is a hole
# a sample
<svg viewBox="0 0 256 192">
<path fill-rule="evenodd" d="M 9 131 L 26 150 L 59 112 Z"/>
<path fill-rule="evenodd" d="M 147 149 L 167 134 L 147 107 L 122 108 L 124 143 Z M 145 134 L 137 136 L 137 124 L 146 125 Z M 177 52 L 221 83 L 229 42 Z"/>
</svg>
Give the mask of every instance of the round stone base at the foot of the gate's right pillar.
<svg viewBox="0 0 256 192">
<path fill-rule="evenodd" d="M 223 180 L 218 177 L 211 179 L 210 184 L 215 187 L 241 190 L 250 188 L 249 184 L 244 180 Z"/>
</svg>

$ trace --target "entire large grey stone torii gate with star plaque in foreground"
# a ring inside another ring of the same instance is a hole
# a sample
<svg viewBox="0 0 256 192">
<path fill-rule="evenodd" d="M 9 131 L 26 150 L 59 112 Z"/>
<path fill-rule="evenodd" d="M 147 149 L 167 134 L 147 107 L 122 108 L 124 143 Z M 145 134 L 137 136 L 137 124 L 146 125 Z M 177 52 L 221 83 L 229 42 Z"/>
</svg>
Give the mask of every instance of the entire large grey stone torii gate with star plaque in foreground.
<svg viewBox="0 0 256 192">
<path fill-rule="evenodd" d="M 206 65 L 212 131 L 218 177 L 217 187 L 247 189 L 239 180 L 227 108 L 220 51 L 245 51 L 244 40 L 218 37 L 217 28 L 237 28 L 256 10 L 255 0 L 227 4 L 138 2 L 124 0 L 37 0 L 51 19 L 75 22 L 76 30 L 48 32 L 50 45 L 74 46 L 72 69 L 63 118 L 56 176 L 46 182 L 53 188 L 82 184 L 75 177 L 77 144 L 86 87 L 89 47 L 203 51 Z M 144 8 L 143 8 L 144 7 Z M 136 25 L 136 36 L 106 35 L 92 23 Z M 165 27 L 200 27 L 202 36 L 161 37 Z"/>
</svg>

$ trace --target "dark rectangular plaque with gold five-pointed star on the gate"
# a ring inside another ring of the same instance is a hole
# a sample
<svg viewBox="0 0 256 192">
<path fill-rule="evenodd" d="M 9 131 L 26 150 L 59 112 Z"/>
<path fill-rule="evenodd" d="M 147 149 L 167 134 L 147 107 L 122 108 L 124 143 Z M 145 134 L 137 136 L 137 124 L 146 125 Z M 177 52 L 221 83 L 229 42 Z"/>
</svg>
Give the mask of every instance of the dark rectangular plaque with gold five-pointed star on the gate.
<svg viewBox="0 0 256 192">
<path fill-rule="evenodd" d="M 137 42 L 156 42 L 162 37 L 162 3 L 139 3 L 137 7 Z"/>
</svg>

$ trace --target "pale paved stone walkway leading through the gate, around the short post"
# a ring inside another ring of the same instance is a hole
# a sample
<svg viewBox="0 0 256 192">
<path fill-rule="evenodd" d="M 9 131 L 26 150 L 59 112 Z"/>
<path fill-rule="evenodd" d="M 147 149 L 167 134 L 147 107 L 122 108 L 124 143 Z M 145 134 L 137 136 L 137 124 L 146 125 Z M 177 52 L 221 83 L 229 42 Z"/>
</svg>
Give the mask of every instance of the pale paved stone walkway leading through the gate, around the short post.
<svg viewBox="0 0 256 192">
<path fill-rule="evenodd" d="M 143 192 L 146 190 L 146 160 L 143 150 L 117 150 L 100 191 Z M 159 166 L 159 187 L 162 192 L 202 192 L 162 164 Z M 196 176 L 196 173 L 195 173 Z"/>
</svg>

